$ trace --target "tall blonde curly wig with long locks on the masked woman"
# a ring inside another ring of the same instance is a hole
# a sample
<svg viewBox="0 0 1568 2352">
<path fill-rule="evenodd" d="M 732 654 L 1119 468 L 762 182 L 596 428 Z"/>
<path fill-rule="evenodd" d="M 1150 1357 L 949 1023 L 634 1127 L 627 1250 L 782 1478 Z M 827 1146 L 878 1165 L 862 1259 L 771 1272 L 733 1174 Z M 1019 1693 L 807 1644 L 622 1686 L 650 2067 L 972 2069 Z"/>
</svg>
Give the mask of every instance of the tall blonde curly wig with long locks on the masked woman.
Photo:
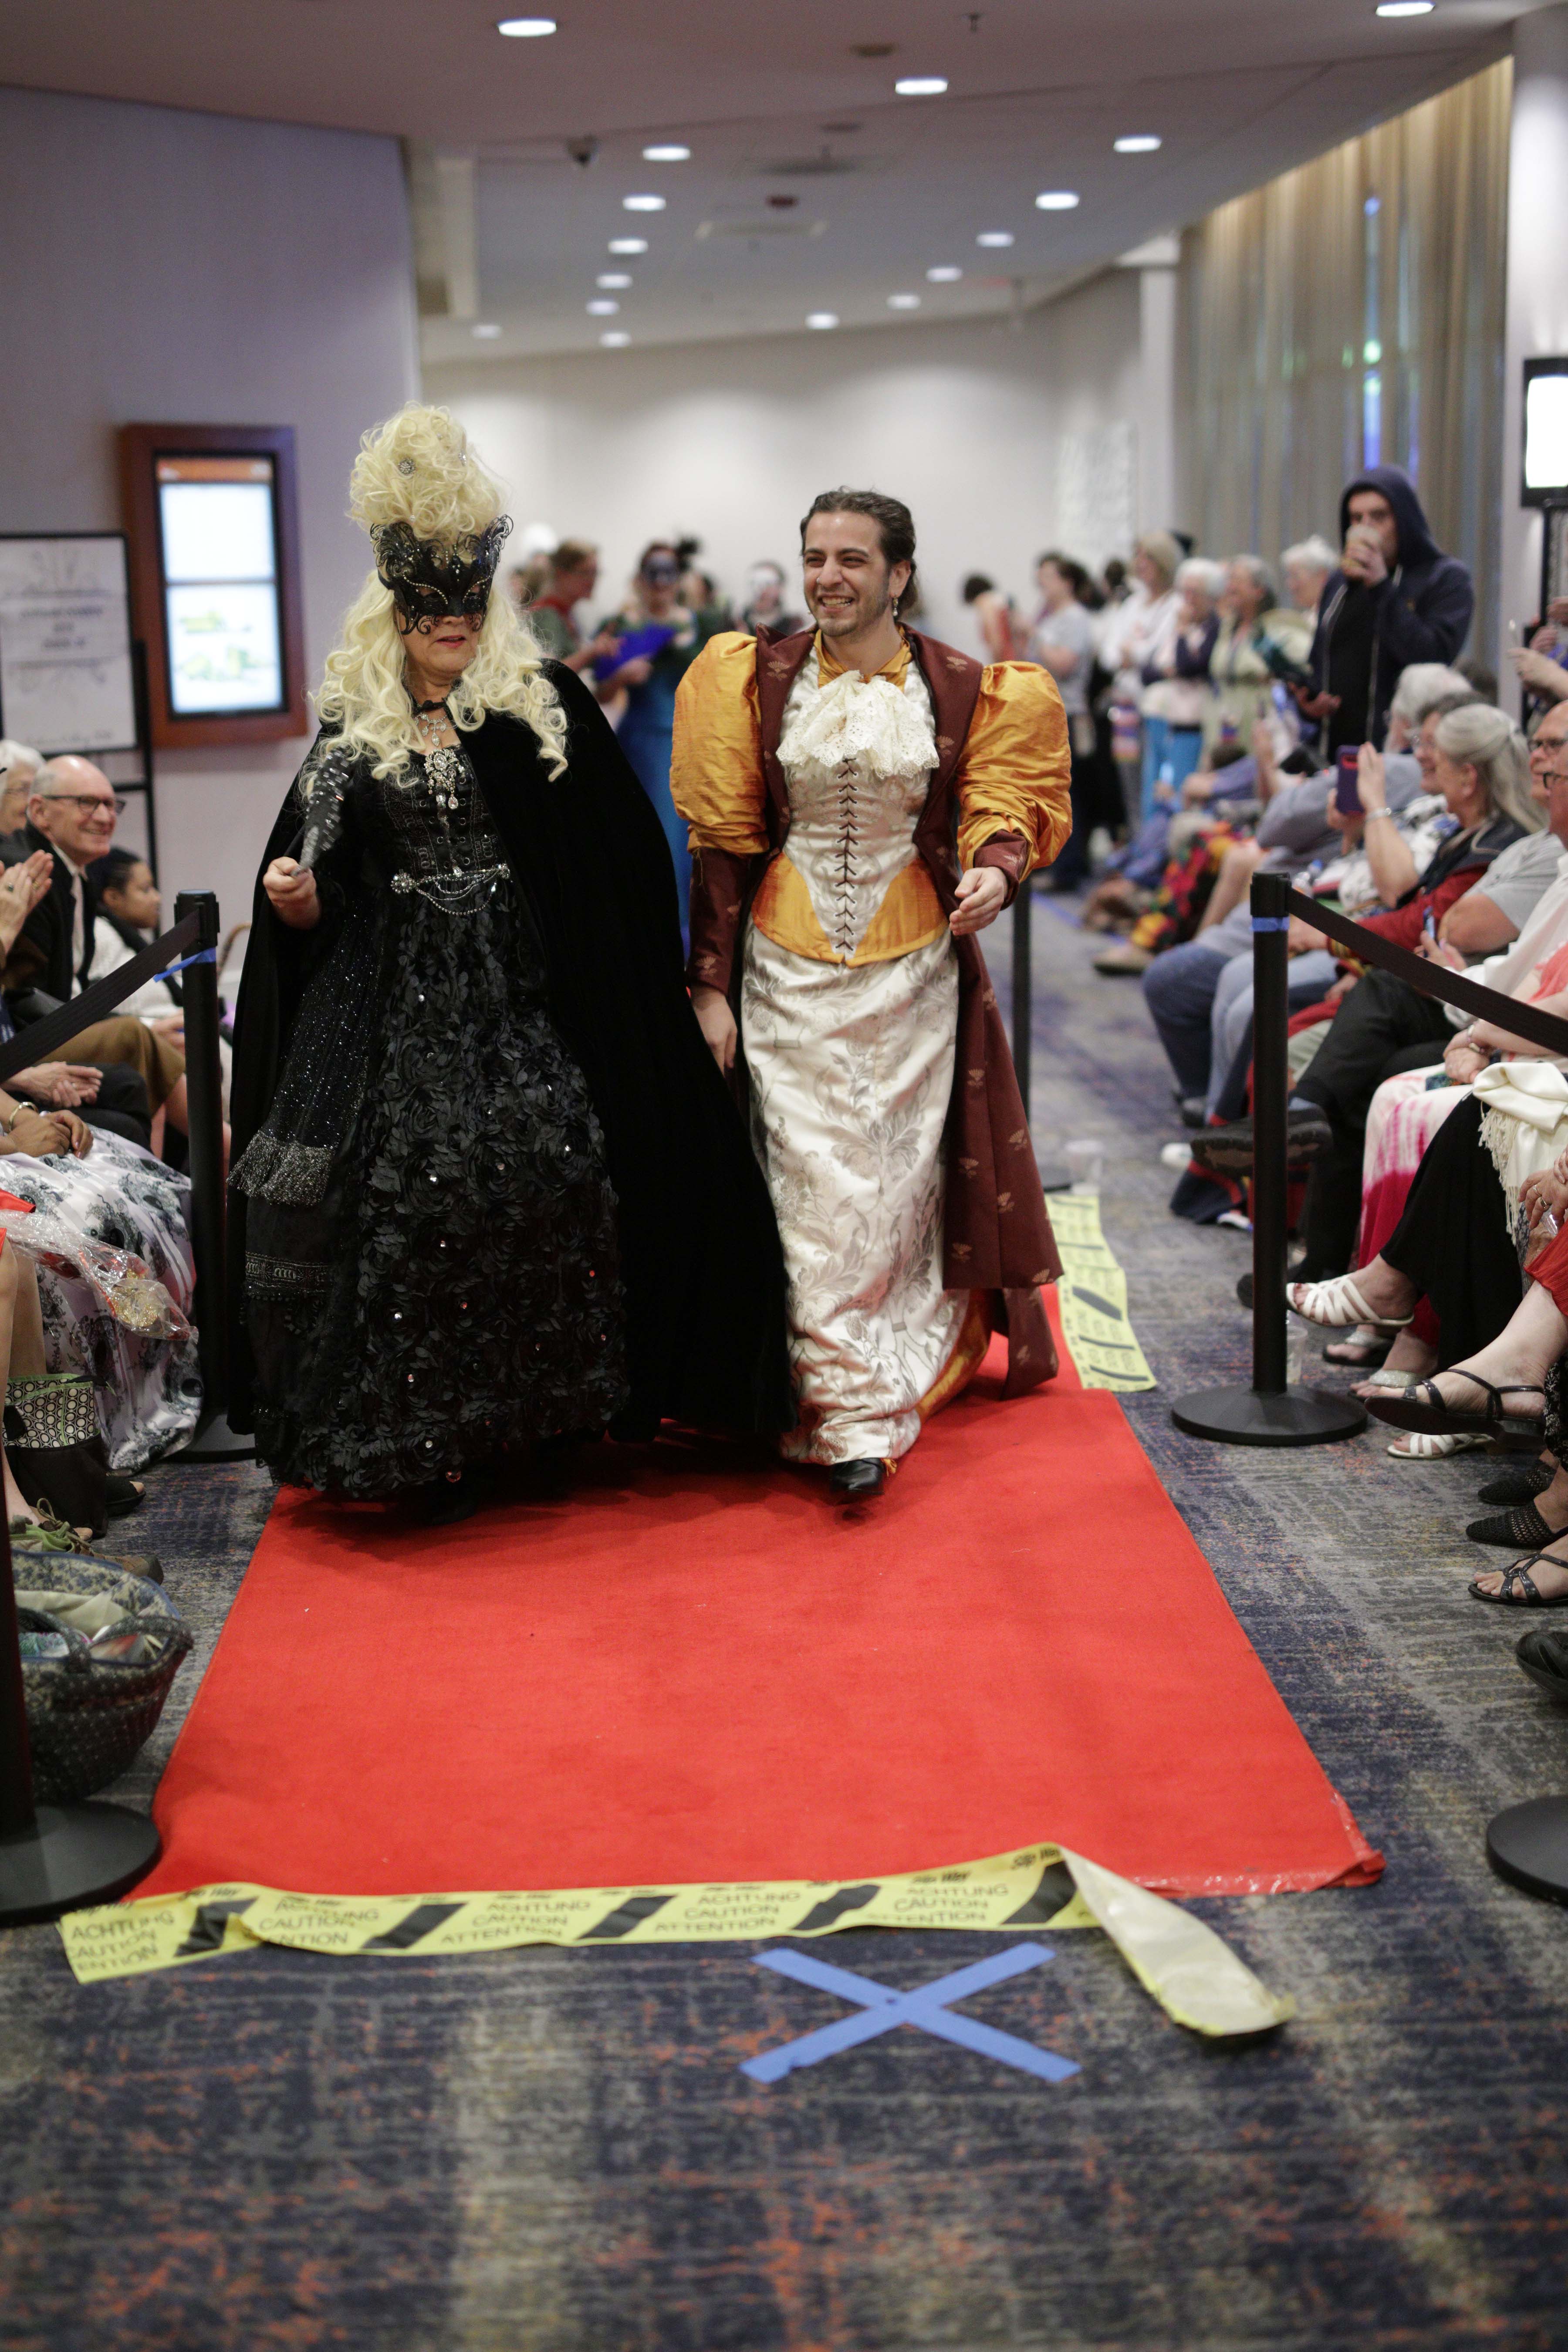
<svg viewBox="0 0 1568 2352">
<path fill-rule="evenodd" d="M 449 546 L 477 539 L 501 513 L 501 492 L 468 447 L 449 409 L 411 400 L 360 442 L 348 477 L 348 513 L 362 529 L 407 522 L 418 539 Z M 489 710 L 505 710 L 534 729 L 552 776 L 567 769 L 567 713 L 543 656 L 508 595 L 491 595 L 475 656 L 451 689 L 451 724 L 473 734 Z M 343 635 L 327 656 L 315 713 L 346 750 L 364 753 L 371 774 L 411 781 L 418 748 L 414 706 L 404 684 L 402 637 L 393 590 L 371 569 L 343 616 Z"/>
</svg>

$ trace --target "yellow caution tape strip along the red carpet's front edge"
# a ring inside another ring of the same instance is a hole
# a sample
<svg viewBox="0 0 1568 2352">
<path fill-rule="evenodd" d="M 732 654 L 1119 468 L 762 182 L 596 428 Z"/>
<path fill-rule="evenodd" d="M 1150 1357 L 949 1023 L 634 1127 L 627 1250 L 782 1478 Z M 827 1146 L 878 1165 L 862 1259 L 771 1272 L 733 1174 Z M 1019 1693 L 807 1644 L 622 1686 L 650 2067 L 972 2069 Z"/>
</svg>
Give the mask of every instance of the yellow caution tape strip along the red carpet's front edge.
<svg viewBox="0 0 1568 2352">
<path fill-rule="evenodd" d="M 353 1957 L 510 1952 L 529 1943 L 762 1943 L 851 1926 L 997 1931 L 1103 1926 L 1178 2025 L 1255 2034 L 1293 2016 L 1199 1919 L 1112 1870 L 1027 1846 L 954 1870 L 891 1879 L 783 1879 L 752 1886 L 574 1886 L 552 1893 L 299 1896 L 197 1886 L 59 1922 L 82 1985 L 146 1976 L 259 1943 Z"/>
</svg>

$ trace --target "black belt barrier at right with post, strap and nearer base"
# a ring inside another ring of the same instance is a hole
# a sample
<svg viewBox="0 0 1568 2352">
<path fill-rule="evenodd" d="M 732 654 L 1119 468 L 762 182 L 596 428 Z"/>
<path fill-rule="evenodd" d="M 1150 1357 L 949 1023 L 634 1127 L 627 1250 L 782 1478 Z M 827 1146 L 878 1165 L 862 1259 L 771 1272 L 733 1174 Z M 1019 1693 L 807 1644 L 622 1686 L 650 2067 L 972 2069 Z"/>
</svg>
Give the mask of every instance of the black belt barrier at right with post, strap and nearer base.
<svg viewBox="0 0 1568 2352">
<path fill-rule="evenodd" d="M 1253 1385 L 1178 1397 L 1171 1418 L 1192 1437 L 1251 1446 L 1307 1446 L 1352 1437 L 1366 1425 L 1354 1397 L 1286 1388 L 1286 934 L 1291 915 L 1324 931 L 1356 962 L 1408 981 L 1425 997 L 1458 1004 L 1507 1037 L 1568 1054 L 1568 1021 L 1481 988 L 1462 971 L 1427 962 L 1291 889 L 1284 875 L 1253 875 Z M 1328 1411 L 1340 1425 L 1324 1425 Z M 1352 1414 L 1356 1416 L 1352 1421 Z M 1486 1830 L 1493 1870 L 1533 1896 L 1568 1903 L 1568 1797 L 1533 1797 L 1495 1813 Z"/>
</svg>

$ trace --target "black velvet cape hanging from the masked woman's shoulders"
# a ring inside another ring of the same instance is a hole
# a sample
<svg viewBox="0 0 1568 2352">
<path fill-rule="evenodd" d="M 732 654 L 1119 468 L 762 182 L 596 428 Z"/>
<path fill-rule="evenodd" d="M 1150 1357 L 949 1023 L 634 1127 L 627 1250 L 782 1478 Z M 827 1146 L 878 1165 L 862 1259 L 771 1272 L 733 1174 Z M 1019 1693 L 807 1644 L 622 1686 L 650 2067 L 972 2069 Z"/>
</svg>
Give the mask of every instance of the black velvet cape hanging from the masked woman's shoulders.
<svg viewBox="0 0 1568 2352">
<path fill-rule="evenodd" d="M 538 739 L 491 713 L 463 734 L 480 790 L 534 913 L 550 1016 L 604 1129 L 618 1200 L 630 1409 L 618 1432 L 661 1418 L 741 1435 L 792 1428 L 785 1270 L 766 1181 L 698 1030 L 682 971 L 675 868 L 654 807 L 614 729 L 574 670 L 545 663 L 569 717 L 567 771 L 550 779 Z M 294 795 L 263 854 L 299 856 Z M 341 842 L 320 858 L 360 875 Z M 456 920 L 456 917 L 454 917 Z M 292 931 L 261 880 L 235 1014 L 233 1157 L 268 1115 L 313 969 L 313 931 Z M 367 1021 L 374 1007 L 367 1007 Z M 228 1200 L 233 1428 L 254 1428 L 244 1329 L 242 1192 Z"/>
</svg>

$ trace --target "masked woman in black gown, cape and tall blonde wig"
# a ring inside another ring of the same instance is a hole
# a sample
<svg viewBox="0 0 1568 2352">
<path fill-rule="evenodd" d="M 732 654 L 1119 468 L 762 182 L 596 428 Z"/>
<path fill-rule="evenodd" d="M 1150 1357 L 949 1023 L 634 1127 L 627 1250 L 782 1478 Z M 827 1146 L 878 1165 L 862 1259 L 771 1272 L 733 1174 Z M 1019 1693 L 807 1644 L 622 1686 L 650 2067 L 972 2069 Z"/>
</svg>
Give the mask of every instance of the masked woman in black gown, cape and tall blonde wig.
<svg viewBox="0 0 1568 2352">
<path fill-rule="evenodd" d="M 430 1517 L 536 1439 L 773 1435 L 783 1261 L 658 818 L 489 597 L 508 524 L 447 412 L 367 435 L 353 510 L 376 574 L 240 990 L 230 1421 L 282 1479 Z"/>
</svg>

